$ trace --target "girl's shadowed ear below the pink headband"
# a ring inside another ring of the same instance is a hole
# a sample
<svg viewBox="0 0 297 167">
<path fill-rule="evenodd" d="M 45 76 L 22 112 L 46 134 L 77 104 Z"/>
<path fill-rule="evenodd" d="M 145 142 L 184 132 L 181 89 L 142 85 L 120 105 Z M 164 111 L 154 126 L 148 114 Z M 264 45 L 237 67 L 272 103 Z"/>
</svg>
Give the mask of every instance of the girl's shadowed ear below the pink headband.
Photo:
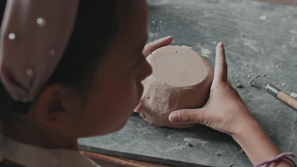
<svg viewBox="0 0 297 167">
<path fill-rule="evenodd" d="M 68 96 L 69 90 L 60 84 L 44 88 L 35 103 L 37 120 L 51 129 L 65 129 L 70 110 Z"/>
</svg>

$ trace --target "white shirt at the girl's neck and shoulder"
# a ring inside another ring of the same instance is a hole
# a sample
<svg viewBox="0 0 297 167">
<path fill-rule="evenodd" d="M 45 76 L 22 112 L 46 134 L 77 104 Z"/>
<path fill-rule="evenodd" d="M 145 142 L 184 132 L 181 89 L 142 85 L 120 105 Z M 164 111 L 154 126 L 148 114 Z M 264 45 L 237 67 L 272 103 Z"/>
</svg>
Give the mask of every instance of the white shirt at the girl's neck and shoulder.
<svg viewBox="0 0 297 167">
<path fill-rule="evenodd" d="M 4 158 L 26 167 L 99 166 L 78 151 L 42 148 L 13 140 L 0 133 L 0 161 Z"/>
</svg>

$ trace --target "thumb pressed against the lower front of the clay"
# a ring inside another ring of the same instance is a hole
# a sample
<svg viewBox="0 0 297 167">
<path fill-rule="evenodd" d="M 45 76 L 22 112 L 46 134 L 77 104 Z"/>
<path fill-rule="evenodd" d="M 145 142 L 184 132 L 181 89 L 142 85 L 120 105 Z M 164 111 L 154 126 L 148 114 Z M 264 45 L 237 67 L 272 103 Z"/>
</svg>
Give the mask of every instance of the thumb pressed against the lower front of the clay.
<svg viewBox="0 0 297 167">
<path fill-rule="evenodd" d="M 204 109 L 183 109 L 174 111 L 169 115 L 171 123 L 198 123 L 203 122 Z"/>
</svg>

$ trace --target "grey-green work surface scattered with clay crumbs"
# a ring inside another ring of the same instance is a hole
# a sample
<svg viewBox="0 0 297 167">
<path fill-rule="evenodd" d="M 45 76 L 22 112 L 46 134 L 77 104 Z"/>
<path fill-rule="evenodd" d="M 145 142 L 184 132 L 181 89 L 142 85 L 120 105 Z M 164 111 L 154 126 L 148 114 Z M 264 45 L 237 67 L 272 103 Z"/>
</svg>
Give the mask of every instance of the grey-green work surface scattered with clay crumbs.
<svg viewBox="0 0 297 167">
<path fill-rule="evenodd" d="M 281 151 L 297 153 L 297 111 L 248 81 L 266 74 L 285 93 L 297 93 L 297 7 L 254 1 L 148 1 L 149 41 L 172 35 L 172 45 L 199 52 L 214 67 L 215 45 L 225 44 L 229 78 Z M 292 94 L 293 95 L 293 94 Z M 189 141 L 193 147 L 186 144 Z M 80 148 L 179 166 L 251 166 L 225 134 L 197 125 L 159 128 L 133 114 L 120 131 L 79 140 Z"/>
</svg>

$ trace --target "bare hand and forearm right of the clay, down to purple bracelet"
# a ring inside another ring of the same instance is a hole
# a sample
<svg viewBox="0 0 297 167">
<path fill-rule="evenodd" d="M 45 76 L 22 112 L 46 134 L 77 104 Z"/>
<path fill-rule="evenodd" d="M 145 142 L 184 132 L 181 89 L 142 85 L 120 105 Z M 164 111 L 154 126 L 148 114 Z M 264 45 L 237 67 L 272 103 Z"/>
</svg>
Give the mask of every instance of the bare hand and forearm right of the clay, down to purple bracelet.
<svg viewBox="0 0 297 167">
<path fill-rule="evenodd" d="M 184 109 L 171 113 L 172 123 L 199 123 L 231 135 L 243 148 L 253 165 L 277 156 L 280 151 L 245 107 L 228 80 L 224 45 L 216 46 L 215 68 L 210 97 L 201 109 Z M 269 166 L 291 166 L 286 159 Z"/>
</svg>

